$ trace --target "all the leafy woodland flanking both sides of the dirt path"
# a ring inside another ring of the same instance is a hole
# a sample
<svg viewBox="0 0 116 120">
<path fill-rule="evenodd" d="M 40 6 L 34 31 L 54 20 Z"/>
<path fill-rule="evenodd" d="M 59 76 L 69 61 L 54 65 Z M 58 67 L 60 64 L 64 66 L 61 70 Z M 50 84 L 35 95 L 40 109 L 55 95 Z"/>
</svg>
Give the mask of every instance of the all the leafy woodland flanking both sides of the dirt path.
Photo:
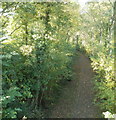
<svg viewBox="0 0 116 120">
<path fill-rule="evenodd" d="M 54 102 L 61 83 L 72 79 L 75 48 L 84 48 L 92 61 L 95 103 L 103 111 L 116 112 L 115 5 L 89 2 L 86 6 L 79 15 L 76 3 L 2 2 L 3 118 L 43 117 L 42 108 Z"/>
</svg>

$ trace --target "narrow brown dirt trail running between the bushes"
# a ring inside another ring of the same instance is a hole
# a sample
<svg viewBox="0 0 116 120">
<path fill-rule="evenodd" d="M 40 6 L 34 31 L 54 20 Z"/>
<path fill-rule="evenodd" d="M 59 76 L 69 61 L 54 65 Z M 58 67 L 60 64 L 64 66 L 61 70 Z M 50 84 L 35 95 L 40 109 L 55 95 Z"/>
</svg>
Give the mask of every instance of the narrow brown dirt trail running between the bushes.
<svg viewBox="0 0 116 120">
<path fill-rule="evenodd" d="M 90 60 L 80 53 L 79 57 L 74 59 L 73 69 L 74 80 L 63 88 L 63 93 L 49 118 L 100 118 L 99 109 L 93 104 L 94 73 Z"/>
</svg>

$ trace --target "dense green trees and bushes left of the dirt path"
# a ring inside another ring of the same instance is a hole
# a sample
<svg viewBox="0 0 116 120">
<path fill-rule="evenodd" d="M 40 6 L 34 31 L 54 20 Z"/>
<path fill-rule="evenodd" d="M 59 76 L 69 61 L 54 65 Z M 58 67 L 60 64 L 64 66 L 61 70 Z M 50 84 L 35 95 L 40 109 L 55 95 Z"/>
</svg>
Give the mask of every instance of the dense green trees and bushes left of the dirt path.
<svg viewBox="0 0 116 120">
<path fill-rule="evenodd" d="M 42 117 L 60 83 L 71 79 L 78 5 L 3 2 L 1 17 L 3 118 Z"/>
</svg>

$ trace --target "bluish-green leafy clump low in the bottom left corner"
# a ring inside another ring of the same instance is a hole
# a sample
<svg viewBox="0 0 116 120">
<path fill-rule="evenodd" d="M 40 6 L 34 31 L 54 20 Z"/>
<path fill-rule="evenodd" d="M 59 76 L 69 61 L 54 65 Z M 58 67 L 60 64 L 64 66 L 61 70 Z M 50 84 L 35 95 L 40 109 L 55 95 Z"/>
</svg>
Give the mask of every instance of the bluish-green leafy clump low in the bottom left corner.
<svg viewBox="0 0 116 120">
<path fill-rule="evenodd" d="M 5 118 L 16 118 L 17 112 L 21 111 L 21 109 L 15 105 L 18 102 L 17 97 L 21 96 L 22 95 L 16 87 L 12 87 L 9 90 L 5 91 L 4 95 L 2 96 L 2 106 L 3 109 L 6 109 L 2 114 Z"/>
</svg>

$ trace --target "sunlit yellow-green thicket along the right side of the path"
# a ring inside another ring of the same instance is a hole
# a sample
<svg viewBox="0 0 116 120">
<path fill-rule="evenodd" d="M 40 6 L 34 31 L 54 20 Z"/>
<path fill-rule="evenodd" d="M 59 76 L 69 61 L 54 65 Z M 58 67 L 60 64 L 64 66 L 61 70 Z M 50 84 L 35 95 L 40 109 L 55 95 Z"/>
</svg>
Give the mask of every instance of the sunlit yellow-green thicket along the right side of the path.
<svg viewBox="0 0 116 120">
<path fill-rule="evenodd" d="M 114 5 L 111 2 L 89 2 L 81 14 L 80 41 L 97 73 L 95 103 L 103 111 L 115 113 L 114 76 Z"/>
</svg>

